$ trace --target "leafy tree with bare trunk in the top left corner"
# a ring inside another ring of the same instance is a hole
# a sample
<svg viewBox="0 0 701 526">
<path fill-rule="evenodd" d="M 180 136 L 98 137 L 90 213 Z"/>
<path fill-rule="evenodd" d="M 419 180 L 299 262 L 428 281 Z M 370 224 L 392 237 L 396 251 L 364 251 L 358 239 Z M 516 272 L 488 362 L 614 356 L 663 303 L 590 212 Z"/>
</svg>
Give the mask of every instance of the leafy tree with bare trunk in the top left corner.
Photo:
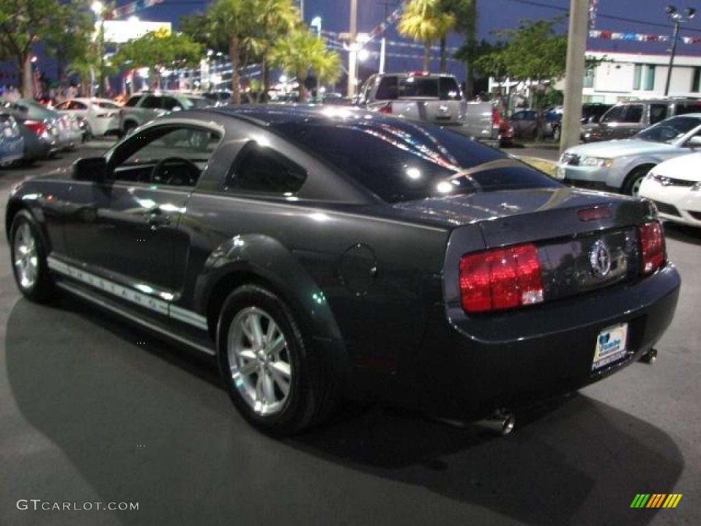
<svg viewBox="0 0 701 526">
<path fill-rule="evenodd" d="M 59 0 L 2 0 L 0 48 L 20 72 L 19 90 L 32 97 L 32 55 L 38 43 L 53 34 L 63 20 Z"/>
</svg>

